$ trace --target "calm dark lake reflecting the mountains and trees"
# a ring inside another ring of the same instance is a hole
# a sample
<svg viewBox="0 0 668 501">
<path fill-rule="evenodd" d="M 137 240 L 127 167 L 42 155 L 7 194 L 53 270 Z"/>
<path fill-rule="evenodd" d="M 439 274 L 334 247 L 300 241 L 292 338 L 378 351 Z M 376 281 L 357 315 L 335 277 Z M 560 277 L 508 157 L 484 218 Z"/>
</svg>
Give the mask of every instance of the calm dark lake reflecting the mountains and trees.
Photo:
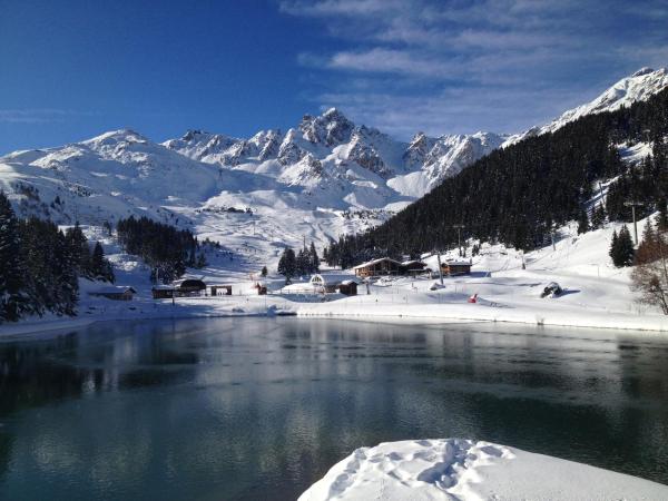
<svg viewBox="0 0 668 501">
<path fill-rule="evenodd" d="M 668 338 L 230 318 L 0 343 L 0 499 L 291 500 L 357 446 L 445 436 L 668 483 Z"/>
</svg>

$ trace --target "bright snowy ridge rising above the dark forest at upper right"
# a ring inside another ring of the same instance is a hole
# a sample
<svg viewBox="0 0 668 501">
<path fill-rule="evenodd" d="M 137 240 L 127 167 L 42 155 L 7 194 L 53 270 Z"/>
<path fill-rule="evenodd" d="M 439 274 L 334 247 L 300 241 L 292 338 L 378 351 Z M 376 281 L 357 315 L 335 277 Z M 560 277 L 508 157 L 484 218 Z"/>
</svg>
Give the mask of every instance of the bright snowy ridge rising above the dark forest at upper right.
<svg viewBox="0 0 668 501">
<path fill-rule="evenodd" d="M 528 137 L 553 132 L 586 115 L 615 111 L 622 106 L 628 107 L 636 101 L 647 100 L 666 87 L 668 87 L 668 70 L 666 68 L 658 70 L 642 68 L 633 75 L 622 78 L 592 101 L 564 111 L 559 118 L 549 124 L 536 126 L 521 134 L 510 136 L 503 143 L 503 147 L 514 145 Z"/>
</svg>

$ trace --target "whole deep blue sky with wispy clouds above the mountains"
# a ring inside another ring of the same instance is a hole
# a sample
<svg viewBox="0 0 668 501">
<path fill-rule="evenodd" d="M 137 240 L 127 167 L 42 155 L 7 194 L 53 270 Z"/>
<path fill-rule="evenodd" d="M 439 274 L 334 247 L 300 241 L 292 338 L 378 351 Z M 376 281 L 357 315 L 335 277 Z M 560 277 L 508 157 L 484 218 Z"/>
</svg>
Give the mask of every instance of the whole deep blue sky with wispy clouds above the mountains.
<svg viewBox="0 0 668 501">
<path fill-rule="evenodd" d="M 668 66 L 667 26 L 662 0 L 0 0 L 0 153 L 330 106 L 403 139 L 518 131 Z"/>
</svg>

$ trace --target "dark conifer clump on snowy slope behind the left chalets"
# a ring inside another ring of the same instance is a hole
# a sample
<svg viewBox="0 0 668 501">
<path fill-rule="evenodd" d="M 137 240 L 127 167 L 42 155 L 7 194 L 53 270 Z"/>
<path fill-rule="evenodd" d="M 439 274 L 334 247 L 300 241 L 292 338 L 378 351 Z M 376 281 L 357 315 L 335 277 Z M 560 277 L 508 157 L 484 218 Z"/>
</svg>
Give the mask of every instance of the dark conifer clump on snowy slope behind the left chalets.
<svg viewBox="0 0 668 501">
<path fill-rule="evenodd" d="M 118 220 L 116 232 L 125 250 L 150 267 L 154 284 L 169 284 L 186 273 L 187 266 L 202 268 L 207 264 L 204 249 L 188 229 L 130 216 Z"/>
</svg>

